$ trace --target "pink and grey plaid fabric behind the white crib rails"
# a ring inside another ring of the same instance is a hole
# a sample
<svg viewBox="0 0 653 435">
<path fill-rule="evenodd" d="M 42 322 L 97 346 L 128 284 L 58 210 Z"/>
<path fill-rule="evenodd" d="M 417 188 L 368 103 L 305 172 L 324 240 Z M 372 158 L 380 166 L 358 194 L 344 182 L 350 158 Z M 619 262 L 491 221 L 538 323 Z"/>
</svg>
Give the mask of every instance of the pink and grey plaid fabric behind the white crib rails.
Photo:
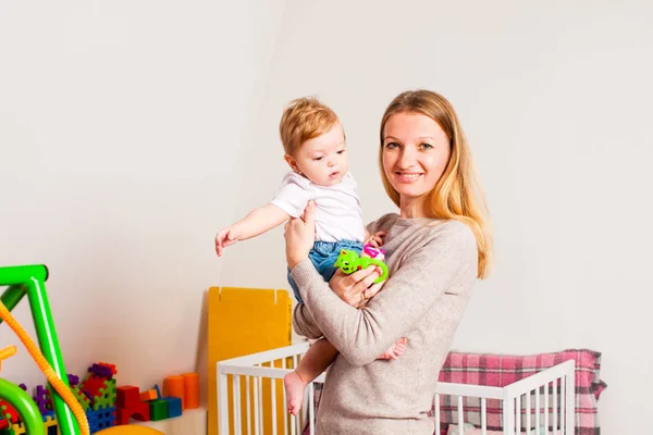
<svg viewBox="0 0 653 435">
<path fill-rule="evenodd" d="M 530 376 L 533 373 L 559 364 L 567 360 L 576 360 L 576 435 L 600 435 L 596 400 L 606 384 L 600 378 L 601 353 L 587 349 L 569 349 L 555 353 L 533 356 L 501 356 L 451 352 L 440 371 L 440 382 L 458 384 L 486 385 L 504 387 Z M 543 391 L 542 391 L 543 393 Z M 557 395 L 557 412 L 559 415 L 559 384 L 549 387 L 550 425 L 553 424 L 553 399 Z M 544 406 L 542 394 L 540 406 Z M 522 418 L 525 425 L 526 403 L 522 398 Z M 464 420 L 480 426 L 480 399 L 465 398 Z M 534 399 L 531 397 L 531 428 L 534 427 Z M 500 400 L 486 401 L 488 430 L 501 431 L 503 427 L 503 409 Z M 446 433 L 451 423 L 458 422 L 457 399 L 449 396 L 440 397 L 441 431 Z M 559 418 L 558 424 L 559 424 Z M 543 418 L 540 423 L 543 424 Z M 550 426 L 550 430 L 552 427 Z"/>
</svg>

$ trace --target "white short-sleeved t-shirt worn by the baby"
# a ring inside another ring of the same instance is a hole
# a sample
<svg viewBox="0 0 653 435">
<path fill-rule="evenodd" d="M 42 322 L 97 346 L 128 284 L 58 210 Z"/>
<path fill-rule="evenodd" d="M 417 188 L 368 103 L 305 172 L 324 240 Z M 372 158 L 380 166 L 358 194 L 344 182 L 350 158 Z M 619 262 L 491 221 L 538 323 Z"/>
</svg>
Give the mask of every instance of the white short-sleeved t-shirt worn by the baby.
<svg viewBox="0 0 653 435">
<path fill-rule="evenodd" d="M 334 186 L 318 186 L 296 172 L 288 172 L 270 201 L 293 217 L 300 216 L 311 199 L 316 201 L 316 240 L 364 241 L 362 209 L 356 181 L 345 174 Z"/>
</svg>

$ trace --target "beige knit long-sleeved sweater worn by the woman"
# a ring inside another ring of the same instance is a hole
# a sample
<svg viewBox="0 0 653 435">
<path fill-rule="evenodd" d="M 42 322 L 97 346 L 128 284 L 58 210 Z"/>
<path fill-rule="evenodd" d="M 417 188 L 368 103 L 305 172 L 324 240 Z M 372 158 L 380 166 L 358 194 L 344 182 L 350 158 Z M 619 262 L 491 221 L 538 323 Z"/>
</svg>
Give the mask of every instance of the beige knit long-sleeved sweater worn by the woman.
<svg viewBox="0 0 653 435">
<path fill-rule="evenodd" d="M 338 350 L 329 369 L 318 411 L 318 431 L 343 434 L 433 434 L 427 418 L 438 373 L 477 281 L 471 231 L 457 221 L 387 214 L 368 225 L 387 231 L 390 278 L 364 309 L 345 303 L 310 260 L 292 275 L 304 304 L 293 325 L 309 338 L 326 337 Z M 377 360 L 408 337 L 398 360 Z"/>
</svg>

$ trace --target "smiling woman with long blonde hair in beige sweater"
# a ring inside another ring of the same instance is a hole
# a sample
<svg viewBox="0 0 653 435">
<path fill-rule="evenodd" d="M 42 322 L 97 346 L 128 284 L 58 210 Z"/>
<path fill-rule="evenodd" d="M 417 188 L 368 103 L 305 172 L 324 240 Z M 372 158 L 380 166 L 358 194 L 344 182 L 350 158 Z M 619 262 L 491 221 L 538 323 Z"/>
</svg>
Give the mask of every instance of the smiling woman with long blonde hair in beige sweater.
<svg viewBox="0 0 653 435">
<path fill-rule="evenodd" d="M 451 103 L 429 90 L 397 96 L 381 121 L 379 163 L 401 210 L 368 225 L 384 234 L 382 290 L 375 268 L 324 283 L 308 259 L 311 204 L 286 224 L 287 264 L 305 301 L 294 327 L 340 351 L 320 401 L 322 434 L 432 434 L 438 373 L 477 278 L 489 274 L 486 209 Z M 377 360 L 402 337 L 402 357 Z"/>
</svg>

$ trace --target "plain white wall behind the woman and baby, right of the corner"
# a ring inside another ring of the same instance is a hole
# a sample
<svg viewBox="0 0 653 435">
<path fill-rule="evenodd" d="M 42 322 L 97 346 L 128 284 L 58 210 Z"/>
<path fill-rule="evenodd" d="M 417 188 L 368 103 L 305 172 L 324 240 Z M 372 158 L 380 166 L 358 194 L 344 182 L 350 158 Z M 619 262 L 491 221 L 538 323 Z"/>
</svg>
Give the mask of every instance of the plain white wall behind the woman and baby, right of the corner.
<svg viewBox="0 0 653 435">
<path fill-rule="evenodd" d="M 641 431 L 653 352 L 650 101 L 653 7 L 645 2 L 288 3 L 233 219 L 285 172 L 276 126 L 316 94 L 341 115 L 367 220 L 393 210 L 375 147 L 392 97 L 428 87 L 455 104 L 496 237 L 455 340 L 468 351 L 603 352 L 605 434 Z M 276 182 L 274 182 L 276 181 Z M 257 273 L 243 258 L 254 254 Z M 221 282 L 287 288 L 282 231 L 230 248 Z"/>
</svg>

